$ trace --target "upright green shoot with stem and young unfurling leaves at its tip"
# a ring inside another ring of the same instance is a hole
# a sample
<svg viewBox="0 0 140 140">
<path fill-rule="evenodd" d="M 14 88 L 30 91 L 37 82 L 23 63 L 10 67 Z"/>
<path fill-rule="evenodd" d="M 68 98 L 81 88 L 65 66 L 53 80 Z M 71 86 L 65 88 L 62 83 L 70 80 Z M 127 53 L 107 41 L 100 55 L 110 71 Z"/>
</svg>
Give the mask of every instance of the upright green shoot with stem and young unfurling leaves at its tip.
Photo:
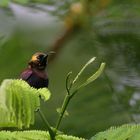
<svg viewBox="0 0 140 140">
<path fill-rule="evenodd" d="M 63 104 L 61 109 L 59 109 L 59 118 L 58 121 L 56 123 L 56 129 L 59 128 L 59 125 L 61 123 L 61 120 L 63 118 L 63 116 L 65 116 L 66 114 L 66 109 L 67 106 L 69 104 L 69 102 L 71 101 L 71 99 L 73 98 L 73 96 L 79 92 L 79 90 L 81 88 L 86 87 L 88 84 L 92 83 L 93 81 L 95 81 L 103 72 L 104 68 L 105 68 L 105 63 L 101 63 L 100 68 L 93 74 L 91 74 L 91 76 L 89 78 L 87 78 L 86 81 L 84 81 L 82 84 L 80 85 L 76 85 L 75 83 L 79 80 L 80 76 L 82 75 L 83 71 L 95 60 L 95 57 L 91 58 L 84 66 L 83 68 L 78 72 L 78 74 L 75 76 L 75 78 L 71 81 L 71 74 L 72 72 L 69 72 L 66 78 L 66 90 L 67 90 L 67 94 L 64 98 Z M 74 87 L 74 88 L 73 88 Z"/>
</svg>

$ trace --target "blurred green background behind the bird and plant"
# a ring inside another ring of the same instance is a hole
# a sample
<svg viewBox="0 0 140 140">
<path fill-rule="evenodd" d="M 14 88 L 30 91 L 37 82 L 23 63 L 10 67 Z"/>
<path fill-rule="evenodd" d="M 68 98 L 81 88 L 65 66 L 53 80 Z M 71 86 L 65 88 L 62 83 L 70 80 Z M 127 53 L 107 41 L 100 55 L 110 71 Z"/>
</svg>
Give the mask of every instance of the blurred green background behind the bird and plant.
<svg viewBox="0 0 140 140">
<path fill-rule="evenodd" d="M 110 126 L 140 122 L 139 0 L 1 0 L 0 81 L 18 78 L 37 51 L 56 51 L 49 62 L 52 98 L 43 111 L 55 125 L 65 79 L 93 56 L 81 81 L 106 62 L 102 76 L 71 101 L 60 130 L 90 138 Z M 36 115 L 31 129 L 45 130 Z"/>
</svg>

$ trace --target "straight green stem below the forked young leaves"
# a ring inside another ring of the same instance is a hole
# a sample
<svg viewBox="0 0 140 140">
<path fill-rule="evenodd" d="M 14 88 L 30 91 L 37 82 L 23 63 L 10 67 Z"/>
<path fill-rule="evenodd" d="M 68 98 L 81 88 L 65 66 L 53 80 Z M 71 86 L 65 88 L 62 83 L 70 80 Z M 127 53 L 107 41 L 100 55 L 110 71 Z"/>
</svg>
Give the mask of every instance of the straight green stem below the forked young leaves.
<svg viewBox="0 0 140 140">
<path fill-rule="evenodd" d="M 61 113 L 60 113 L 60 116 L 58 118 L 58 121 L 57 121 L 56 127 L 55 127 L 56 129 L 58 129 L 59 126 L 60 126 L 60 123 L 62 121 L 63 115 L 64 115 L 64 113 L 66 111 L 66 108 L 67 108 L 69 102 L 70 102 L 70 99 L 71 99 L 71 95 L 67 94 L 65 96 L 65 99 L 64 99 L 63 104 L 62 104 L 62 107 L 61 107 Z"/>
</svg>

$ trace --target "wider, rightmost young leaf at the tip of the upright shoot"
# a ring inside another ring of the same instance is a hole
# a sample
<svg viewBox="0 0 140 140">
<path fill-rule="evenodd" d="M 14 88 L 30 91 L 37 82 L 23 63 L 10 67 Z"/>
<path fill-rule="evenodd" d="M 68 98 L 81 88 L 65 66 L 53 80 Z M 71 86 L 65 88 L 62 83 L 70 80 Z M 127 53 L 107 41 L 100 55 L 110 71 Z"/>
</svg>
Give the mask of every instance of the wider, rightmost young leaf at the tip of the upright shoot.
<svg viewBox="0 0 140 140">
<path fill-rule="evenodd" d="M 105 63 L 101 63 L 100 68 L 91 76 L 89 77 L 85 83 L 83 83 L 79 88 L 85 87 L 91 82 L 95 81 L 103 72 L 105 68 Z"/>
</svg>

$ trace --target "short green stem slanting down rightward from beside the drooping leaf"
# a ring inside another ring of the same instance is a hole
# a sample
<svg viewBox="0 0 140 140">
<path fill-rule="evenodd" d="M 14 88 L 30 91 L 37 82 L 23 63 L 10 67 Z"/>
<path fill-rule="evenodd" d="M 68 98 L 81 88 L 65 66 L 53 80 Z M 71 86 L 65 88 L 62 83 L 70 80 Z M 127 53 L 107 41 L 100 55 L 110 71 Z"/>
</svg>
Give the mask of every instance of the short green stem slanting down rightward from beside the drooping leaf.
<svg viewBox="0 0 140 140">
<path fill-rule="evenodd" d="M 39 110 L 39 114 L 40 114 L 42 120 L 44 121 L 44 123 L 46 124 L 46 127 L 47 127 L 49 134 L 50 134 L 50 137 L 51 137 L 51 140 L 55 140 L 55 133 L 51 129 L 49 122 L 47 121 L 47 119 L 45 118 L 45 116 L 41 110 Z"/>
</svg>

